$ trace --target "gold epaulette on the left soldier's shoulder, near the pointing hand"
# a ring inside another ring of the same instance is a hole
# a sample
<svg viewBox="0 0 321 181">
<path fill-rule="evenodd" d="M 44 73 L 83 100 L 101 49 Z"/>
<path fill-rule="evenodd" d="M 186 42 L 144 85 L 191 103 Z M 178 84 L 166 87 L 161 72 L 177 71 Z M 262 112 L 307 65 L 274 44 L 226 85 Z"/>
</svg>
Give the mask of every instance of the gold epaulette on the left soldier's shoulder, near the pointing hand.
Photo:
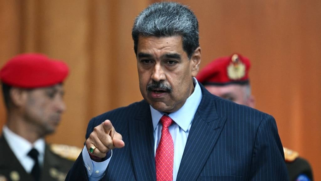
<svg viewBox="0 0 321 181">
<path fill-rule="evenodd" d="M 80 152 L 82 152 L 82 148 L 61 144 L 50 144 L 50 150 L 56 155 L 71 161 L 75 161 Z"/>
</svg>

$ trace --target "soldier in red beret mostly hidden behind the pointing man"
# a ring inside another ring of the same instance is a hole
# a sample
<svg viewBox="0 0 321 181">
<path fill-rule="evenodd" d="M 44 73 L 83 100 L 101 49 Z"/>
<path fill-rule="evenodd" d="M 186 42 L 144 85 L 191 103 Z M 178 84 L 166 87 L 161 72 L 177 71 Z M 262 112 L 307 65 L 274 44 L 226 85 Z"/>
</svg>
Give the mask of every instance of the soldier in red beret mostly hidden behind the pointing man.
<svg viewBox="0 0 321 181">
<path fill-rule="evenodd" d="M 248 76 L 250 66 L 249 59 L 233 54 L 210 62 L 196 79 L 212 94 L 254 108 L 255 99 Z M 290 181 L 312 181 L 312 168 L 308 161 L 295 151 L 283 149 Z"/>
</svg>

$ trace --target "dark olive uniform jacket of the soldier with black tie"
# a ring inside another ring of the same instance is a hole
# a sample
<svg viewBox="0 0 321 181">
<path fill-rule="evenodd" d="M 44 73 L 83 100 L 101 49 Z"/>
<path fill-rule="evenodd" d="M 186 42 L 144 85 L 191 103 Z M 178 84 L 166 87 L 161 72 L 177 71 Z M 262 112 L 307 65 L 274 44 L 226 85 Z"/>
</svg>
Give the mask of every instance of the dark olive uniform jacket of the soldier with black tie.
<svg viewBox="0 0 321 181">
<path fill-rule="evenodd" d="M 33 181 L 32 176 L 24 170 L 3 136 L 0 137 L 0 148 L 0 181 Z M 41 180 L 65 180 L 81 150 L 66 145 L 46 144 Z"/>
</svg>

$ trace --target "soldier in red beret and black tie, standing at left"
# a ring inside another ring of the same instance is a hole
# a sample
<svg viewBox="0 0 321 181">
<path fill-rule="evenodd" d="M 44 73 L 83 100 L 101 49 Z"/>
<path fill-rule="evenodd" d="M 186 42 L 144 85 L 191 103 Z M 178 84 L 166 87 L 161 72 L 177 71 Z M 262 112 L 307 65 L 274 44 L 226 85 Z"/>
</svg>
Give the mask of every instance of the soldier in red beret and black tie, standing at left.
<svg viewBox="0 0 321 181">
<path fill-rule="evenodd" d="M 0 70 L 7 122 L 0 137 L 0 181 L 65 180 L 81 149 L 48 145 L 65 111 L 69 69 L 42 54 L 20 54 Z"/>
</svg>

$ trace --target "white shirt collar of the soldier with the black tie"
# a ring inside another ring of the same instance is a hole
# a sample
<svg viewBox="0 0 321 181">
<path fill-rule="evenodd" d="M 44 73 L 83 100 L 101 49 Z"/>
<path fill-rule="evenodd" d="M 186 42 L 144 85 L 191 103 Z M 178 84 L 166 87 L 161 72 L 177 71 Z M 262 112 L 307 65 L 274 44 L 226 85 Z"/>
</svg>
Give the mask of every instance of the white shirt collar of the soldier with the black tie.
<svg viewBox="0 0 321 181">
<path fill-rule="evenodd" d="M 45 154 L 46 143 L 43 138 L 37 139 L 33 144 L 31 144 L 25 138 L 22 138 L 11 131 L 6 125 L 3 127 L 3 135 L 12 152 L 18 159 L 23 159 L 28 156 L 29 151 L 33 147 L 37 149 L 40 157 L 43 157 Z"/>
</svg>

